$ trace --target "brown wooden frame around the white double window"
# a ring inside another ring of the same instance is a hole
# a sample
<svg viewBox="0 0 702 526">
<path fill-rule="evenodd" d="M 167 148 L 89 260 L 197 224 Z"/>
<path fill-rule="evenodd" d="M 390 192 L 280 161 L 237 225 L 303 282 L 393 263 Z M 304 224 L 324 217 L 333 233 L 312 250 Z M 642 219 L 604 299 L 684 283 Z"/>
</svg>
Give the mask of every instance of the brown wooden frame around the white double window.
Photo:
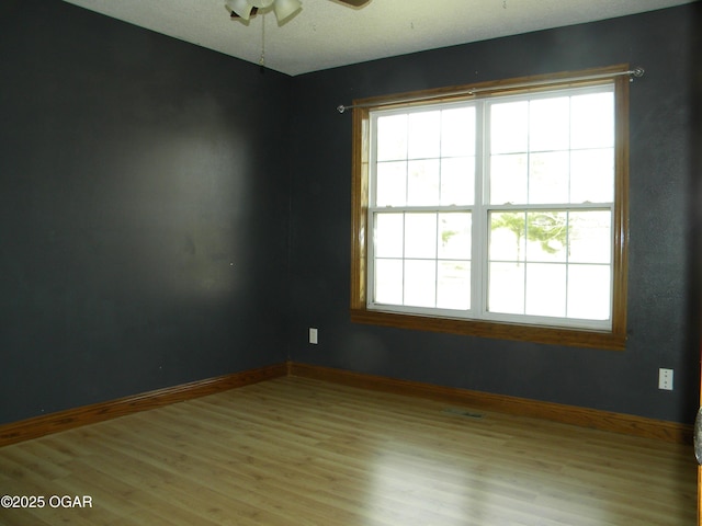
<svg viewBox="0 0 702 526">
<path fill-rule="evenodd" d="M 626 281 L 629 244 L 629 84 L 624 72 L 629 65 L 522 77 L 517 79 L 482 82 L 397 95 L 376 96 L 353 101 L 352 195 L 351 195 L 351 321 L 375 325 L 446 332 L 454 334 L 519 340 L 546 344 L 622 351 L 626 346 Z M 608 77 L 609 76 L 609 77 Z M 577 80 L 597 77 L 598 80 Z M 370 113 L 373 110 L 394 106 L 426 104 L 427 101 L 448 102 L 489 96 L 489 94 L 528 93 L 554 88 L 581 87 L 614 82 L 615 144 L 614 144 L 614 217 L 613 217 L 613 287 L 611 330 L 586 330 L 564 327 L 466 320 L 398 312 L 370 310 L 366 307 L 366 278 L 369 253 L 369 146 Z M 479 93 L 479 95 L 476 95 Z"/>
</svg>

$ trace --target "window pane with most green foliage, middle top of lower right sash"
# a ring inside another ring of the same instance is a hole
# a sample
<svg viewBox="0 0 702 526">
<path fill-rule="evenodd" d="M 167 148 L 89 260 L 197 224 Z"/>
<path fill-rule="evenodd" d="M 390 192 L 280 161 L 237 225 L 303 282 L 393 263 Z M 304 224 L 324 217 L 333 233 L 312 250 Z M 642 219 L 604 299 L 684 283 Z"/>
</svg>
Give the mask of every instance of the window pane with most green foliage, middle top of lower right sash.
<svg viewBox="0 0 702 526">
<path fill-rule="evenodd" d="M 539 210 L 526 214 L 526 261 L 562 261 L 567 258 L 568 214 Z"/>
</svg>

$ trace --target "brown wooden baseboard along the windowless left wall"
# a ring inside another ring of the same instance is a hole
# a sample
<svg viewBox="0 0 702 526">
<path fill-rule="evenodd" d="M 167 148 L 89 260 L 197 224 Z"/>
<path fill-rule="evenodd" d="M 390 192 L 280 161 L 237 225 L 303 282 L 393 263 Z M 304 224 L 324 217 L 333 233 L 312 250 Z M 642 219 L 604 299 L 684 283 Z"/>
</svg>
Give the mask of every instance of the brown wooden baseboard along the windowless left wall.
<svg viewBox="0 0 702 526">
<path fill-rule="evenodd" d="M 286 374 L 286 364 L 271 365 L 13 422 L 0 426 L 0 447 L 81 425 L 94 424 L 104 420 L 279 378 Z"/>
</svg>

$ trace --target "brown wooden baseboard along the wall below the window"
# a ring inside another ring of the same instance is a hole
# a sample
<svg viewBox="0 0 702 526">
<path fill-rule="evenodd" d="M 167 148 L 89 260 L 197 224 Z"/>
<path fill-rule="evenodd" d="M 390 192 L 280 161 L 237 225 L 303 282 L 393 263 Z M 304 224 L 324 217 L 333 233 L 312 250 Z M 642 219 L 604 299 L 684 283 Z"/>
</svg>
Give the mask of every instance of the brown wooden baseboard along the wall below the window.
<svg viewBox="0 0 702 526">
<path fill-rule="evenodd" d="M 692 426 L 677 422 L 645 419 L 623 413 L 599 411 L 576 405 L 541 402 L 503 395 L 434 386 L 419 381 L 365 375 L 316 365 L 288 363 L 288 376 L 313 378 L 350 387 L 372 389 L 395 395 L 433 399 L 469 408 L 509 413 L 520 416 L 561 422 L 601 431 L 624 433 L 666 442 L 692 443 Z"/>
</svg>

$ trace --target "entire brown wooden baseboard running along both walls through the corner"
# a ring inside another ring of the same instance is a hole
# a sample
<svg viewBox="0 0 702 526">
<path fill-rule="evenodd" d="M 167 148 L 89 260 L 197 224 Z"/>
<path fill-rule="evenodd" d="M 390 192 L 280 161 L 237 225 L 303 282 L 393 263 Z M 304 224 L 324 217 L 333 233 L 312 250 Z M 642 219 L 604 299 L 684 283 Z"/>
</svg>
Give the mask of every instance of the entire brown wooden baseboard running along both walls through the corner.
<svg viewBox="0 0 702 526">
<path fill-rule="evenodd" d="M 666 442 L 692 443 L 692 425 L 677 422 L 287 362 L 0 425 L 0 447 L 283 376 L 298 376 L 362 389 L 421 397 L 486 411 Z"/>
</svg>

